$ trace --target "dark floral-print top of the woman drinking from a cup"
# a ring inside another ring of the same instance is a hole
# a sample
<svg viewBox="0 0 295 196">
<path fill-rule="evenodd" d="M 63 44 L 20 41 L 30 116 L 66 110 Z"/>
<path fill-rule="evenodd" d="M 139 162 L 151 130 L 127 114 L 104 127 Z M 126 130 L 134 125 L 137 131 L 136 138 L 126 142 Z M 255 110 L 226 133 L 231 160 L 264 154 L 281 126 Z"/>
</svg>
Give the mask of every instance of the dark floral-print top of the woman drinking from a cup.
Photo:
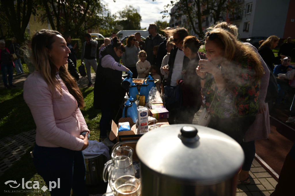
<svg viewBox="0 0 295 196">
<path fill-rule="evenodd" d="M 211 106 L 210 114 L 217 118 L 239 118 L 246 116 L 255 116 L 258 112 L 260 81 L 251 81 L 255 71 L 249 65 L 247 60 L 241 61 L 235 69 L 239 70 L 239 74 L 229 83 L 234 83 L 233 93 L 226 89 L 223 92 L 217 92 L 215 100 Z M 223 73 L 222 66 L 220 71 Z M 252 84 L 250 84 L 252 83 Z M 212 74 L 208 73 L 203 88 L 203 101 L 208 110 L 217 86 Z"/>
</svg>

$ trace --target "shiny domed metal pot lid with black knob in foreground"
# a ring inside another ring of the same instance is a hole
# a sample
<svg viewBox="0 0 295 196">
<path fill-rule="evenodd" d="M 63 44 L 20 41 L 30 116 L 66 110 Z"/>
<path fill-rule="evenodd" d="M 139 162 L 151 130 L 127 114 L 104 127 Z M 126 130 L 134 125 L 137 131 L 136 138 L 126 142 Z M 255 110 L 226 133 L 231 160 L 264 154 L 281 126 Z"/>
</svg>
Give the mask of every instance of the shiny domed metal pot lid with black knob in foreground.
<svg viewBox="0 0 295 196">
<path fill-rule="evenodd" d="M 160 127 L 144 134 L 137 142 L 136 153 L 143 164 L 160 175 L 208 185 L 233 177 L 244 161 L 243 150 L 234 139 L 189 124 Z"/>
</svg>

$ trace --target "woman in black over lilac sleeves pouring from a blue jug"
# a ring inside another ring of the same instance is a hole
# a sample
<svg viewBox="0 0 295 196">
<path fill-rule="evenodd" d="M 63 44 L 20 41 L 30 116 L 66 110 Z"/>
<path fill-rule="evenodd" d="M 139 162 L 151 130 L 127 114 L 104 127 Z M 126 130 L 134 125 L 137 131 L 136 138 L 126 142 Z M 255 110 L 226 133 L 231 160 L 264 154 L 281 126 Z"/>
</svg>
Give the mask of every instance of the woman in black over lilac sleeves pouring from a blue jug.
<svg viewBox="0 0 295 196">
<path fill-rule="evenodd" d="M 112 119 L 115 120 L 113 117 L 116 116 L 124 100 L 126 90 L 121 86 L 122 71 L 126 71 L 130 77 L 133 75 L 128 68 L 119 63 L 124 52 L 123 44 L 114 37 L 113 44 L 107 45 L 101 51 L 102 58 L 98 62 L 93 101 L 94 108 L 101 109 L 99 128 L 102 140 L 106 138 L 106 132 L 111 130 L 109 123 Z"/>
</svg>

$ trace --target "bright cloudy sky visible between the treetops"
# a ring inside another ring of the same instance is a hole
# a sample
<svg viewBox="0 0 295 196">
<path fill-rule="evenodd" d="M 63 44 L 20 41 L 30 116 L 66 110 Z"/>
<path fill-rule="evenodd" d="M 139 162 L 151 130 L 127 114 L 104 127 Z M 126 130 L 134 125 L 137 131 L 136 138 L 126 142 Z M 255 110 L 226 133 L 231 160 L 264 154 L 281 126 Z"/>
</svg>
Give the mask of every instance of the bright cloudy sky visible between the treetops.
<svg viewBox="0 0 295 196">
<path fill-rule="evenodd" d="M 170 4 L 170 1 L 171 0 L 116 0 L 116 2 L 114 2 L 113 0 L 103 0 L 104 3 L 108 4 L 108 9 L 112 14 L 121 11 L 125 6 L 132 5 L 141 16 L 141 28 L 148 27 L 149 24 L 157 20 L 169 22 L 170 18 L 162 19 L 163 14 L 160 14 L 160 12 L 164 10 L 165 5 Z"/>
</svg>

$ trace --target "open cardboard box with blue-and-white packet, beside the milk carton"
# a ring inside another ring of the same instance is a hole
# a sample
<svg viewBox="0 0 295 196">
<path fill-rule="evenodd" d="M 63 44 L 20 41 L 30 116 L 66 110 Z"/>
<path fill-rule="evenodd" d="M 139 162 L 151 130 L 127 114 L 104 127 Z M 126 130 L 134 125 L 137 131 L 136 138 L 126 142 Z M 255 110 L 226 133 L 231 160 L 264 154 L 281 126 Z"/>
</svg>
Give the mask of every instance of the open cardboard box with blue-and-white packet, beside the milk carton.
<svg viewBox="0 0 295 196">
<path fill-rule="evenodd" d="M 130 138 L 133 138 L 134 140 L 134 136 L 137 134 L 136 133 L 136 125 L 133 122 L 132 118 L 127 117 L 127 118 L 120 118 L 119 119 L 119 123 L 123 123 L 123 122 L 129 122 L 130 124 L 130 129 L 128 131 L 120 131 L 119 132 L 119 128 L 118 125 L 112 120 L 112 131 L 109 135 L 109 139 L 112 141 L 114 139 L 116 139 L 117 142 L 121 141 L 125 141 L 125 140 L 132 140 Z M 122 136 L 123 139 L 120 139 L 120 136 Z M 138 135 L 138 137 L 140 137 Z"/>
</svg>

